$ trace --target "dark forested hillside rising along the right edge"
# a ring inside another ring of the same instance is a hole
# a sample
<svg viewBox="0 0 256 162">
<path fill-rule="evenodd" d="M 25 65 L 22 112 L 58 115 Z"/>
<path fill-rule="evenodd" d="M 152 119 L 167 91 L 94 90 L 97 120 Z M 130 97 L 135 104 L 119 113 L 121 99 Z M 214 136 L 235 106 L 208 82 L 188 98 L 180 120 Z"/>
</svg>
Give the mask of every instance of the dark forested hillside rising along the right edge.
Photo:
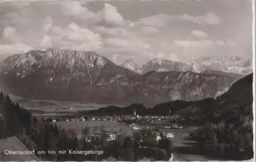
<svg viewBox="0 0 256 162">
<path fill-rule="evenodd" d="M 205 154 L 234 160 L 253 157 L 252 74 L 235 83 L 217 99 L 209 123 L 196 138 Z"/>
</svg>

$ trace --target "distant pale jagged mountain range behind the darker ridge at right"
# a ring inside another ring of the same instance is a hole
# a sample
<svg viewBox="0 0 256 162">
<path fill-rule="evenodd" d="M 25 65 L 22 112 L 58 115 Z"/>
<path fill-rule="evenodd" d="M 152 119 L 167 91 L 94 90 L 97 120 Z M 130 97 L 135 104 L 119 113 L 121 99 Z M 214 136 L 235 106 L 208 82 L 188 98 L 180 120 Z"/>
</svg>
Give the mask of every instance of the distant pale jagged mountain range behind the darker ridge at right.
<svg viewBox="0 0 256 162">
<path fill-rule="evenodd" d="M 245 61 L 241 57 L 203 57 L 191 59 L 187 62 L 154 59 L 139 67 L 133 60 L 125 60 L 122 67 L 145 74 L 150 71 L 221 71 L 247 75 L 252 73 L 251 60 Z"/>
</svg>

